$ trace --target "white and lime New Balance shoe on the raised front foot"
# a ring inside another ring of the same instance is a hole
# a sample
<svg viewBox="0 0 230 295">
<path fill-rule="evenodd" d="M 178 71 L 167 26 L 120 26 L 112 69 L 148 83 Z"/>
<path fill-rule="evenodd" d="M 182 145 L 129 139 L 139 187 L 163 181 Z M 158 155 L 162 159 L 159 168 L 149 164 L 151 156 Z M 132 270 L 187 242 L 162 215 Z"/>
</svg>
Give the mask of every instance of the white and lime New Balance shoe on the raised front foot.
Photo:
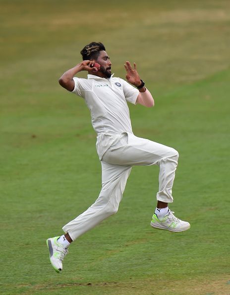
<svg viewBox="0 0 230 295">
<path fill-rule="evenodd" d="M 176 218 L 173 213 L 173 211 L 169 210 L 169 212 L 161 220 L 158 219 L 157 215 L 154 213 L 151 226 L 175 232 L 187 230 L 190 228 L 190 224 L 187 221 L 182 221 Z"/>
</svg>

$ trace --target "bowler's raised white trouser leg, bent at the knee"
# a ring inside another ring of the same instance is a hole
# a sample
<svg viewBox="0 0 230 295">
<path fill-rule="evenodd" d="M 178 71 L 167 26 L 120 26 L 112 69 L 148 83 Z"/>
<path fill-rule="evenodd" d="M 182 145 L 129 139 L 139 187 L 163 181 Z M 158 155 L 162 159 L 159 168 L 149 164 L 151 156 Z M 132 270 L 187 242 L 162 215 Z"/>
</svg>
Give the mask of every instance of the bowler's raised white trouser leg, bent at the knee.
<svg viewBox="0 0 230 295">
<path fill-rule="evenodd" d="M 112 146 L 104 154 L 108 163 L 119 165 L 159 165 L 159 192 L 157 200 L 172 203 L 172 187 L 178 161 L 178 152 L 147 139 L 138 138 L 132 134 L 123 136 L 122 147 Z M 126 141 L 125 141 L 126 140 Z"/>
</svg>

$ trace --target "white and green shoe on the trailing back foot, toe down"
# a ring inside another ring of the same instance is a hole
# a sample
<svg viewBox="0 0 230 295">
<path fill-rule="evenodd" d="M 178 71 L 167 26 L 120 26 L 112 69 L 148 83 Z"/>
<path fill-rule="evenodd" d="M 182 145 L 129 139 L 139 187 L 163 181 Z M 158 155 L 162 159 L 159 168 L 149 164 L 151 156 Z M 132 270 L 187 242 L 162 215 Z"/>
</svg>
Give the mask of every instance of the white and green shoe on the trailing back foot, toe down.
<svg viewBox="0 0 230 295">
<path fill-rule="evenodd" d="M 68 248 L 65 249 L 58 243 L 58 238 L 59 236 L 55 236 L 46 240 L 50 252 L 50 262 L 57 273 L 62 270 L 62 261 L 65 255 L 68 254 Z"/>
</svg>

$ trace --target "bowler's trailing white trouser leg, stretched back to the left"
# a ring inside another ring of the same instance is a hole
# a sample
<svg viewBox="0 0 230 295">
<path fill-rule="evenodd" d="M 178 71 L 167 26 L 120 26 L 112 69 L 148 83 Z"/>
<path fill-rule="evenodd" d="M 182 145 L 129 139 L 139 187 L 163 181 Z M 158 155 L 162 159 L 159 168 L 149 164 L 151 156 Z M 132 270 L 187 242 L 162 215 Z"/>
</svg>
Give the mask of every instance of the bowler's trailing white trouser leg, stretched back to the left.
<svg viewBox="0 0 230 295">
<path fill-rule="evenodd" d="M 96 202 L 84 213 L 62 227 L 72 240 L 115 214 L 130 174 L 130 166 L 102 163 L 102 190 Z"/>
</svg>

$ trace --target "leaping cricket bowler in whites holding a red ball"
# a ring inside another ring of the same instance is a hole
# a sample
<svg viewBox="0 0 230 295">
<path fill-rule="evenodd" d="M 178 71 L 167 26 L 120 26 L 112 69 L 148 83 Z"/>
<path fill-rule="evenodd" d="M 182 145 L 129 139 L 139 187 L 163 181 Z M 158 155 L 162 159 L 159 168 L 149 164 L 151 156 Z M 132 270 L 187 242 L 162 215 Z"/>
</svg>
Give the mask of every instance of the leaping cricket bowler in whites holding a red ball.
<svg viewBox="0 0 230 295">
<path fill-rule="evenodd" d="M 117 212 L 133 165 L 160 167 L 157 207 L 151 226 L 173 232 L 190 228 L 188 222 L 176 218 L 168 207 L 168 203 L 173 202 L 172 187 L 178 152 L 138 138 L 132 132 L 127 102 L 154 106 L 153 97 L 140 79 L 136 64 L 125 63 L 125 81 L 112 74 L 112 63 L 102 43 L 86 45 L 81 55 L 83 62 L 62 74 L 59 84 L 82 97 L 91 112 L 102 165 L 102 190 L 92 206 L 62 227 L 63 235 L 47 239 L 50 261 L 58 273 L 62 270 L 62 261 L 70 243 Z M 88 71 L 87 79 L 75 76 L 81 71 Z"/>
</svg>

